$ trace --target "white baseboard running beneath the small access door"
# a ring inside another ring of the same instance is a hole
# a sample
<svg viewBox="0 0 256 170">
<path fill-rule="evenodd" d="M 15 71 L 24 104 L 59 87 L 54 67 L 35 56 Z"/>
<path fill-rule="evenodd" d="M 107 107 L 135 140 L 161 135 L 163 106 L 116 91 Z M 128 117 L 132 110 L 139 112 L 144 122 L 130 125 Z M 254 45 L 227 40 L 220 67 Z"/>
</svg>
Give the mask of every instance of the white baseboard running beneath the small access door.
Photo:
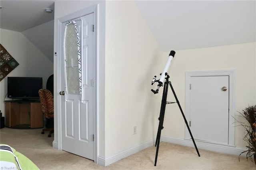
<svg viewBox="0 0 256 170">
<path fill-rule="evenodd" d="M 173 143 L 173 144 L 180 144 L 183 146 L 195 147 L 192 140 L 187 140 L 187 139 L 179 139 L 179 138 L 171 138 L 171 137 L 167 137 L 167 136 L 162 136 L 161 141 Z M 196 146 L 198 149 L 210 150 L 210 151 L 214 151 L 214 152 L 232 154 L 232 155 L 237 155 L 237 156 L 239 156 L 241 152 L 246 150 L 246 148 L 238 148 L 236 146 L 231 146 L 231 145 L 213 144 L 213 143 L 200 142 L 200 141 L 195 141 L 195 143 L 196 143 Z M 196 152 L 196 150 L 195 150 L 195 152 Z"/>
</svg>

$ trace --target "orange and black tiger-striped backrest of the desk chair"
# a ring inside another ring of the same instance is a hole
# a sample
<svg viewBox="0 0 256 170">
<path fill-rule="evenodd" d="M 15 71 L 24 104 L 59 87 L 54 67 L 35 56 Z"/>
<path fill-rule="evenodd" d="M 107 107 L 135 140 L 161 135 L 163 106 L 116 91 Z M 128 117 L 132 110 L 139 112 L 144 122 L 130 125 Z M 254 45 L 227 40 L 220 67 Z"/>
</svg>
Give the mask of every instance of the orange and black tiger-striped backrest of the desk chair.
<svg viewBox="0 0 256 170">
<path fill-rule="evenodd" d="M 41 110 L 44 113 L 44 117 L 48 119 L 54 117 L 52 93 L 47 89 L 40 89 L 38 94 L 41 102 Z"/>
</svg>

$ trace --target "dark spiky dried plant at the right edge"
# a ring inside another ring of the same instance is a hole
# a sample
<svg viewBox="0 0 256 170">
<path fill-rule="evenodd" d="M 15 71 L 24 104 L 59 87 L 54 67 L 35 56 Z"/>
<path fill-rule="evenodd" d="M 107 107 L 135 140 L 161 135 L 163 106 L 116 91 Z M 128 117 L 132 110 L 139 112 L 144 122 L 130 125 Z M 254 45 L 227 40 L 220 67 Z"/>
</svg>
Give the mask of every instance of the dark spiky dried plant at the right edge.
<svg viewBox="0 0 256 170">
<path fill-rule="evenodd" d="M 256 105 L 246 107 L 240 114 L 240 117 L 246 120 L 245 123 L 239 123 L 245 128 L 244 140 L 247 142 L 247 150 L 241 152 L 239 158 L 246 152 L 246 159 L 253 158 L 256 164 Z"/>
</svg>

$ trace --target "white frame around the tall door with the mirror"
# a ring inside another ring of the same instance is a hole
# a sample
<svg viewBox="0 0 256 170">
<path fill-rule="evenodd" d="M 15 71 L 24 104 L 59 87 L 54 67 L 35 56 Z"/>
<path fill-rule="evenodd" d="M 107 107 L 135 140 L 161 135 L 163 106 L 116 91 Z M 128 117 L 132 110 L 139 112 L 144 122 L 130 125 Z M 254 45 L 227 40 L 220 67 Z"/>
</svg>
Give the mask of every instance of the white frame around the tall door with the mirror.
<svg viewBox="0 0 256 170">
<path fill-rule="evenodd" d="M 61 96 L 58 95 L 59 91 L 62 91 L 61 89 L 61 70 L 63 67 L 63 63 L 61 63 L 61 57 L 62 57 L 62 51 L 61 51 L 61 42 L 62 42 L 62 37 L 61 37 L 61 25 L 63 22 L 66 22 L 68 20 L 72 20 L 75 18 L 79 18 L 80 16 L 85 16 L 88 14 L 94 13 L 94 162 L 98 163 L 98 85 L 97 85 L 97 79 L 98 79 L 98 5 L 94 5 L 82 10 L 79 10 L 77 12 L 74 12 L 72 14 L 69 14 L 67 16 L 64 16 L 62 18 L 57 19 L 57 29 L 58 29 L 58 38 L 57 38 L 57 43 L 58 43 L 58 52 L 54 52 L 54 55 L 57 55 L 57 95 L 55 98 L 57 99 L 56 102 L 56 108 L 55 111 L 57 111 L 57 126 L 55 127 L 54 130 L 57 130 L 58 132 L 58 149 L 62 150 L 62 123 L 61 123 Z M 56 116 L 55 116 L 56 117 Z M 57 128 L 57 129 L 56 129 Z"/>
</svg>

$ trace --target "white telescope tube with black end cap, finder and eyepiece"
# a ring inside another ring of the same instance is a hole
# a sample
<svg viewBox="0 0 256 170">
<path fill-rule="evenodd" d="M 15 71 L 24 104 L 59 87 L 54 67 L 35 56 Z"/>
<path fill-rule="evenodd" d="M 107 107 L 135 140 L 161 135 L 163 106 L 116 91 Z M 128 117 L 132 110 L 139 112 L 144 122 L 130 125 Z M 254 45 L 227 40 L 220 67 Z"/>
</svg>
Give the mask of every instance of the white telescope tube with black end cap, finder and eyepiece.
<svg viewBox="0 0 256 170">
<path fill-rule="evenodd" d="M 167 71 L 168 71 L 168 69 L 169 69 L 169 67 L 170 67 L 170 64 L 171 64 L 172 59 L 174 58 L 174 55 L 175 55 L 175 51 L 170 51 L 170 54 L 169 54 L 168 60 L 167 60 L 167 62 L 166 62 L 166 65 L 165 65 L 165 67 L 164 67 L 164 70 L 163 70 L 162 73 L 160 74 L 160 75 L 161 75 L 160 79 L 159 79 L 159 80 L 156 80 L 156 75 L 154 76 L 154 78 L 153 78 L 153 80 L 152 80 L 152 82 L 151 82 L 151 85 L 153 85 L 155 82 L 158 82 L 157 89 L 156 89 L 156 90 L 151 89 L 151 91 L 152 91 L 154 94 L 158 93 L 159 88 L 160 88 L 161 86 L 163 86 L 164 78 L 165 78 L 165 76 L 167 75 Z"/>
</svg>

